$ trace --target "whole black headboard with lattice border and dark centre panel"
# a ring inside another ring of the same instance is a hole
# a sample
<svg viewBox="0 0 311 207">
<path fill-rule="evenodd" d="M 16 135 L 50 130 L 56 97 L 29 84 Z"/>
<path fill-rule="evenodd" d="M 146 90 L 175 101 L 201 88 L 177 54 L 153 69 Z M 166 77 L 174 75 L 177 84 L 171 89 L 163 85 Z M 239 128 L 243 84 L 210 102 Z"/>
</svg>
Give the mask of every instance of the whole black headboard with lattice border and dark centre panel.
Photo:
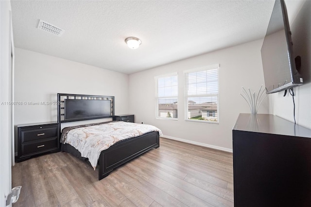
<svg viewBox="0 0 311 207">
<path fill-rule="evenodd" d="M 57 94 L 57 121 L 83 121 L 114 116 L 114 96 Z"/>
</svg>

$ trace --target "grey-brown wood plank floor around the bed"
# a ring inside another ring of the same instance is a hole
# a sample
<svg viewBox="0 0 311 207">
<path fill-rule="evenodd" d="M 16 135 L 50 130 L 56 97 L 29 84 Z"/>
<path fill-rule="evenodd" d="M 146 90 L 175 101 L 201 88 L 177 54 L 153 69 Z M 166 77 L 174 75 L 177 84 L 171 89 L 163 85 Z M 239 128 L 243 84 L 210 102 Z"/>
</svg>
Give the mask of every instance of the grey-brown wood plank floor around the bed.
<svg viewBox="0 0 311 207">
<path fill-rule="evenodd" d="M 233 207 L 232 154 L 160 138 L 160 147 L 98 180 L 85 161 L 59 152 L 16 163 L 13 207 Z"/>
</svg>

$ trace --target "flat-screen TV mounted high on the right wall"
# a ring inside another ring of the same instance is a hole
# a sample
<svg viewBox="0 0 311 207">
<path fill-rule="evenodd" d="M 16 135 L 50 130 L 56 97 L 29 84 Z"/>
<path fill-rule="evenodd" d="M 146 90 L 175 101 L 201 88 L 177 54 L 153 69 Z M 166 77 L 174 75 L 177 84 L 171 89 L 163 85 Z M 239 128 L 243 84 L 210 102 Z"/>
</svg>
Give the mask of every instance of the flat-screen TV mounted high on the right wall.
<svg viewBox="0 0 311 207">
<path fill-rule="evenodd" d="M 261 47 L 266 93 L 275 93 L 303 83 L 295 65 L 292 33 L 284 0 L 276 0 Z"/>
</svg>

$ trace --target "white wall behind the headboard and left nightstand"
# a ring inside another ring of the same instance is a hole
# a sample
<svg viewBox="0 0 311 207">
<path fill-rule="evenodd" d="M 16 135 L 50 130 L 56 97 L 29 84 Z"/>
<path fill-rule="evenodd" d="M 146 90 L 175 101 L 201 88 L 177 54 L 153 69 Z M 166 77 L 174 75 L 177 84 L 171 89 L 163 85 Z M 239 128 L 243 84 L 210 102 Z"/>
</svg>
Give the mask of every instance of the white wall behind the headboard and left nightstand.
<svg viewBox="0 0 311 207">
<path fill-rule="evenodd" d="M 128 112 L 128 75 L 16 48 L 15 101 L 53 102 L 57 93 L 115 96 Z M 15 124 L 57 121 L 57 105 L 16 105 Z"/>
</svg>

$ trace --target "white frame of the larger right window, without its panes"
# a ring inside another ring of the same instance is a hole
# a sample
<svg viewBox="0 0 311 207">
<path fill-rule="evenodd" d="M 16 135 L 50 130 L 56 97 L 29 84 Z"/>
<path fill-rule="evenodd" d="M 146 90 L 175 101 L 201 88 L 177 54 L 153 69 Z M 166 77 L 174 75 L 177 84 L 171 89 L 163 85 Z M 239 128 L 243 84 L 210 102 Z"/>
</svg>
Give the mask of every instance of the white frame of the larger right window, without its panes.
<svg viewBox="0 0 311 207">
<path fill-rule="evenodd" d="M 191 72 L 200 72 L 200 71 L 207 71 L 211 69 L 217 69 L 217 94 L 203 94 L 203 95 L 188 95 L 188 75 Z M 194 69 L 188 69 L 184 70 L 184 94 L 185 94 L 185 99 L 184 99 L 184 110 L 185 110 L 185 121 L 191 121 L 191 122 L 199 122 L 199 123 L 212 123 L 212 124 L 219 124 L 220 123 L 220 108 L 219 108 L 219 64 L 214 64 L 206 67 L 201 67 L 201 68 L 194 68 Z M 217 97 L 217 121 L 205 121 L 205 120 L 191 120 L 188 119 L 188 113 L 189 113 L 189 103 L 188 99 L 189 98 L 198 98 L 198 97 Z"/>
</svg>

